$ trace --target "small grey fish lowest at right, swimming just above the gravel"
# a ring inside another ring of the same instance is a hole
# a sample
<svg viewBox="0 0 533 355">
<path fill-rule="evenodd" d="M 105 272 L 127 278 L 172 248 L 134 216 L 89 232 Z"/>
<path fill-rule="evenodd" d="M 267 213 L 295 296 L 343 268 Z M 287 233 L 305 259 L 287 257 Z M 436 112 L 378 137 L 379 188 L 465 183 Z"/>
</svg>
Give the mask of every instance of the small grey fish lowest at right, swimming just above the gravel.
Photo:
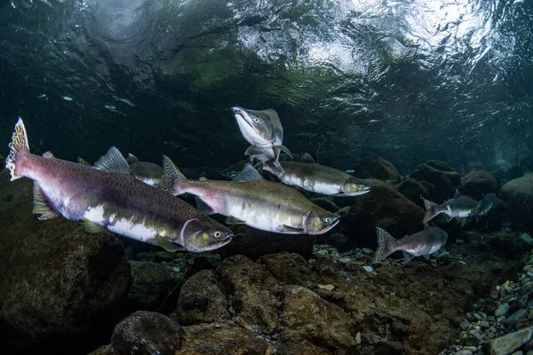
<svg viewBox="0 0 533 355">
<path fill-rule="evenodd" d="M 402 250 L 403 264 L 407 264 L 415 256 L 429 256 L 446 245 L 448 233 L 441 228 L 425 225 L 424 231 L 407 235 L 400 240 L 394 239 L 385 229 L 376 227 L 378 233 L 378 249 L 374 256 L 374 263 L 381 263 L 386 256 Z"/>
</svg>

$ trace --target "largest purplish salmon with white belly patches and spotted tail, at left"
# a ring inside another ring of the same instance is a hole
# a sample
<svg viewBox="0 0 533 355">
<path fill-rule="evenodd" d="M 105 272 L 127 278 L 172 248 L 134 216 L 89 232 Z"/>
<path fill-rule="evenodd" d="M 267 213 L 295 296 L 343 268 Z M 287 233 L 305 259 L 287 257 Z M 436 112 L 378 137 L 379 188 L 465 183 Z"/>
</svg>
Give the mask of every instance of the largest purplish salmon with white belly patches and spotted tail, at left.
<svg viewBox="0 0 533 355">
<path fill-rule="evenodd" d="M 84 221 L 88 232 L 103 229 L 169 251 L 206 251 L 232 240 L 225 225 L 203 215 L 187 202 L 132 177 L 114 146 L 95 168 L 29 152 L 24 122 L 19 119 L 5 167 L 12 180 L 34 180 L 34 209 L 39 219 L 63 216 Z"/>
</svg>

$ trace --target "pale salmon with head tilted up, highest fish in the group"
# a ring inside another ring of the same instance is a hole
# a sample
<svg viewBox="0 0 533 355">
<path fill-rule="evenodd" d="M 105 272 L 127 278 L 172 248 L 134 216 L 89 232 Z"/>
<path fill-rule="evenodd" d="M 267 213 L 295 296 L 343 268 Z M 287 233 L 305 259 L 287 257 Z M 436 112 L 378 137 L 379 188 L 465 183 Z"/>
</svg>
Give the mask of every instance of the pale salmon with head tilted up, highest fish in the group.
<svg viewBox="0 0 533 355">
<path fill-rule="evenodd" d="M 243 137 L 251 144 L 244 152 L 251 157 L 251 161 L 277 162 L 280 152 L 290 154 L 290 150 L 282 145 L 283 128 L 278 114 L 272 109 L 249 110 L 235 106 L 231 107 Z"/>
</svg>

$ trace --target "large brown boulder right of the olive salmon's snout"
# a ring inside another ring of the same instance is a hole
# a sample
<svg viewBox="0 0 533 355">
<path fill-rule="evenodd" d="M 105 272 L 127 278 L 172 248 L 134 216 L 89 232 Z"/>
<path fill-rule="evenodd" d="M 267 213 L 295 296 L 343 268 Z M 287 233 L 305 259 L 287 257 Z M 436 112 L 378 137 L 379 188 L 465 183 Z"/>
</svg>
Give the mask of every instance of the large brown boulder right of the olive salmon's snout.
<svg viewBox="0 0 533 355">
<path fill-rule="evenodd" d="M 376 227 L 385 229 L 394 238 L 423 230 L 424 209 L 394 190 L 394 186 L 378 179 L 365 179 L 371 185 L 370 193 L 357 196 L 351 201 L 336 198 L 338 205 L 352 203 L 350 214 L 342 218 L 340 232 L 350 236 L 358 247 L 376 248 Z"/>
</svg>

